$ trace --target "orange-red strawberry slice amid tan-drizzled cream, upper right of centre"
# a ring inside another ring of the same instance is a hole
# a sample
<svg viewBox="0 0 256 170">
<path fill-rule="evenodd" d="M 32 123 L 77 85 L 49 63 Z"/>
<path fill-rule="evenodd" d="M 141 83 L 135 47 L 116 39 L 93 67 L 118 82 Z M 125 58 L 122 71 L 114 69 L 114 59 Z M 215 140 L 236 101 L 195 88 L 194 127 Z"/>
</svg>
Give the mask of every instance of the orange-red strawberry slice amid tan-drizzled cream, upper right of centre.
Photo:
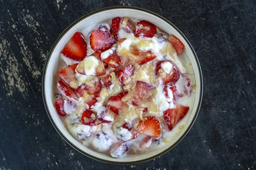
<svg viewBox="0 0 256 170">
<path fill-rule="evenodd" d="M 131 46 L 130 51 L 131 51 L 131 54 L 134 54 L 135 56 L 137 56 L 136 62 L 139 65 L 149 62 L 157 57 L 157 53 L 153 50 L 149 50 L 145 52 L 145 51 L 138 50 L 134 46 Z"/>
</svg>

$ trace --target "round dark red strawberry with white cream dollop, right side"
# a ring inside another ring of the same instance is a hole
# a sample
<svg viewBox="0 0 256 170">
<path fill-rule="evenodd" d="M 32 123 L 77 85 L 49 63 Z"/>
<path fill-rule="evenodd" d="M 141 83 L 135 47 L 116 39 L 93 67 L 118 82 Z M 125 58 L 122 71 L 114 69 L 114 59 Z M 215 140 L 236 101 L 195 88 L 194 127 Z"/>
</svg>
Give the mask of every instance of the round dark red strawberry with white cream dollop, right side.
<svg viewBox="0 0 256 170">
<path fill-rule="evenodd" d="M 168 82 L 176 83 L 180 78 L 180 72 L 175 64 L 169 61 L 160 61 L 157 63 L 157 75 L 159 75 L 163 84 Z"/>
</svg>

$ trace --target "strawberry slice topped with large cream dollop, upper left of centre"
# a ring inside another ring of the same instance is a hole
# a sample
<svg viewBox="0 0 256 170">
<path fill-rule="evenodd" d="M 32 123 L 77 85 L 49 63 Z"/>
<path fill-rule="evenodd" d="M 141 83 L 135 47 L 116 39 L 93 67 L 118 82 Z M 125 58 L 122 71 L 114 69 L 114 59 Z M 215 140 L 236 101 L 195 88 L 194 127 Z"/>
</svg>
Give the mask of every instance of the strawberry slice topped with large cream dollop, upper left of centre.
<svg viewBox="0 0 256 170">
<path fill-rule="evenodd" d="M 106 73 L 106 70 L 103 62 L 91 55 L 76 66 L 76 72 L 87 76 L 101 76 Z"/>
</svg>

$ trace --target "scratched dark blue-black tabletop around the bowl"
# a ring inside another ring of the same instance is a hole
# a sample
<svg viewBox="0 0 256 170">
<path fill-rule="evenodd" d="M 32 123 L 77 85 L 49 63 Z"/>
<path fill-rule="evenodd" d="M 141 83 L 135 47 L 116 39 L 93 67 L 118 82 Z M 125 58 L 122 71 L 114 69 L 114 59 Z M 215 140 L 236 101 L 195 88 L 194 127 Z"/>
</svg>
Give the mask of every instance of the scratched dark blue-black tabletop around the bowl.
<svg viewBox="0 0 256 170">
<path fill-rule="evenodd" d="M 135 165 L 78 153 L 44 109 L 41 77 L 51 46 L 74 20 L 107 6 L 137 6 L 174 23 L 204 76 L 198 118 L 171 151 Z M 0 170 L 256 169 L 255 0 L 0 0 Z"/>
</svg>

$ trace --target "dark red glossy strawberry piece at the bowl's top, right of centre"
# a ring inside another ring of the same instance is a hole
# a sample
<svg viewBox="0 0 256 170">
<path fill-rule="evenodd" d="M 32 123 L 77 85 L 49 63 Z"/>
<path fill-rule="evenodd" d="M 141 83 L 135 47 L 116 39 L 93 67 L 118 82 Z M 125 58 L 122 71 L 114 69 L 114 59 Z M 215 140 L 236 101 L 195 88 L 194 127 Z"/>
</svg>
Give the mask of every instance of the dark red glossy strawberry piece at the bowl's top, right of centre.
<svg viewBox="0 0 256 170">
<path fill-rule="evenodd" d="M 136 25 L 135 37 L 153 37 L 156 33 L 156 26 L 148 21 L 142 20 Z"/>
</svg>

